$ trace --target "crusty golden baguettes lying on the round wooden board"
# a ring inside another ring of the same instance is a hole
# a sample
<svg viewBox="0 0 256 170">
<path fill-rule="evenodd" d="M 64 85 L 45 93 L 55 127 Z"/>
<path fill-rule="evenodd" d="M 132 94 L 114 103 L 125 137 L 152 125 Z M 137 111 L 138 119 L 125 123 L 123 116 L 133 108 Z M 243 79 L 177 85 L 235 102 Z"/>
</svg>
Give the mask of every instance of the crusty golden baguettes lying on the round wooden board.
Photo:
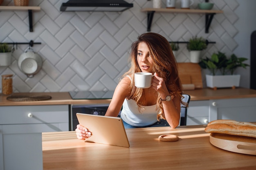
<svg viewBox="0 0 256 170">
<path fill-rule="evenodd" d="M 256 137 L 256 124 L 235 120 L 214 120 L 207 124 L 204 131 L 207 133 L 225 133 L 229 135 Z"/>
</svg>

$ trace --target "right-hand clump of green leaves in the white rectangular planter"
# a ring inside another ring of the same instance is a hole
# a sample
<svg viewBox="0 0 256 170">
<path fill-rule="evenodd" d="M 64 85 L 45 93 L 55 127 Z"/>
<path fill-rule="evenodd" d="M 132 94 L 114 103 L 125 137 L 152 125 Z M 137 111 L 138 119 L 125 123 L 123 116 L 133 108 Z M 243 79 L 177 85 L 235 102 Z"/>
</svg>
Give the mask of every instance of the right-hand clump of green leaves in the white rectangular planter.
<svg viewBox="0 0 256 170">
<path fill-rule="evenodd" d="M 250 66 L 246 63 L 243 63 L 244 61 L 248 60 L 247 58 L 244 57 L 236 57 L 235 54 L 232 54 L 230 59 L 227 61 L 227 69 L 230 70 L 231 74 L 234 74 L 234 71 L 238 67 L 243 67 L 246 68 L 247 66 Z"/>
</svg>

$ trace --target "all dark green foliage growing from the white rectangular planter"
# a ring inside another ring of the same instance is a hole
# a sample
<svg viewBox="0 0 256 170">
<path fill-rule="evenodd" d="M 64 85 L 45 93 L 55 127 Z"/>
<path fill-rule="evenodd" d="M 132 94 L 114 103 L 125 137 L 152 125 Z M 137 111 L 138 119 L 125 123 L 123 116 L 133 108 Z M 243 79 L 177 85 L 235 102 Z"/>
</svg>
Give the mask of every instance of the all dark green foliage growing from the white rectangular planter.
<svg viewBox="0 0 256 170">
<path fill-rule="evenodd" d="M 227 59 L 225 53 L 218 52 L 213 53 L 211 58 L 206 57 L 205 59 L 201 59 L 198 63 L 201 68 L 209 69 L 213 76 L 216 75 L 216 72 L 220 70 L 222 75 L 227 74 L 227 70 L 230 71 L 231 74 L 234 74 L 234 71 L 238 67 L 246 68 L 249 66 L 248 64 L 243 63 L 246 61 L 246 58 L 238 58 L 235 54 L 231 55 L 230 59 Z"/>
</svg>

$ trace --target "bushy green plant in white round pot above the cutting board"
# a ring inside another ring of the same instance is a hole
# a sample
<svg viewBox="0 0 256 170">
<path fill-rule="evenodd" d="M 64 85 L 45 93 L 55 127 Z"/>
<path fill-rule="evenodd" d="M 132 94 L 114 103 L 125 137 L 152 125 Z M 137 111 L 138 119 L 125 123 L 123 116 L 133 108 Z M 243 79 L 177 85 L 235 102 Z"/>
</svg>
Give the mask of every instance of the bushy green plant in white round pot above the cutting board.
<svg viewBox="0 0 256 170">
<path fill-rule="evenodd" d="M 201 51 L 207 48 L 206 40 L 203 37 L 192 37 L 187 43 L 187 49 L 190 52 L 190 62 L 198 63 L 200 61 Z"/>
</svg>

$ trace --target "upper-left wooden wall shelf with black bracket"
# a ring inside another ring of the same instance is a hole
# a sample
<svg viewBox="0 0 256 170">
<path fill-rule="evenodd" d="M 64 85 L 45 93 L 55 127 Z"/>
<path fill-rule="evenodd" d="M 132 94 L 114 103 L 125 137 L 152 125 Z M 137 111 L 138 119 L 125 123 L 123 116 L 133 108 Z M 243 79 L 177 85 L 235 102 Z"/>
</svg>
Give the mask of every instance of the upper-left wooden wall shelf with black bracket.
<svg viewBox="0 0 256 170">
<path fill-rule="evenodd" d="M 28 10 L 28 13 L 29 13 L 29 32 L 33 32 L 32 10 L 40 11 L 41 7 L 31 7 L 31 6 L 0 6 L 0 11 L 22 11 L 22 10 Z"/>
</svg>

